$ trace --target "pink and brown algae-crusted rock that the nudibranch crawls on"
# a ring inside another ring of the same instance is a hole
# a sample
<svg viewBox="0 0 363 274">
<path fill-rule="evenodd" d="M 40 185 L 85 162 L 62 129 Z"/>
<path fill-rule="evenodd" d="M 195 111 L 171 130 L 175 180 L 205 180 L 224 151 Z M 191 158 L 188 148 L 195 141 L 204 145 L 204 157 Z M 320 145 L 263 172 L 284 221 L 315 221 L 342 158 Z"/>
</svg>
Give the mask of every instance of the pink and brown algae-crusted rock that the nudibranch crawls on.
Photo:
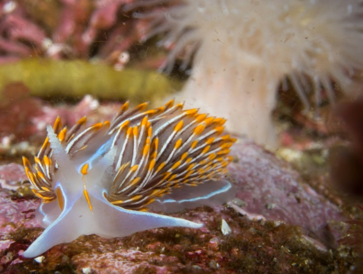
<svg viewBox="0 0 363 274">
<path fill-rule="evenodd" d="M 114 239 L 82 236 L 35 259 L 22 253 L 43 230 L 34 219 L 40 201 L 14 191 L 25 179 L 21 166 L 0 166 L 0 271 L 318 273 L 345 272 L 353 264 L 335 249 L 327 251 L 339 237 L 331 224 L 345 219 L 339 208 L 304 183 L 288 163 L 254 143 L 240 140 L 231 154 L 227 177 L 236 185 L 238 199 L 173 214 L 203 222 L 203 228 L 160 228 Z M 229 234 L 222 233 L 222 220 Z"/>
</svg>

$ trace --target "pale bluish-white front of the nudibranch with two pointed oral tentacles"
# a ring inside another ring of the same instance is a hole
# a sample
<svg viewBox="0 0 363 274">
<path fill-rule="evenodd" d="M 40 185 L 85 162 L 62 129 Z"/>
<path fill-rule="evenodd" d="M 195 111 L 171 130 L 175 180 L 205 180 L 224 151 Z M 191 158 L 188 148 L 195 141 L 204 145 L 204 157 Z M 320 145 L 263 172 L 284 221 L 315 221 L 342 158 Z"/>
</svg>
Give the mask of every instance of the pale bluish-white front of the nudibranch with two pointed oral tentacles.
<svg viewBox="0 0 363 274">
<path fill-rule="evenodd" d="M 159 227 L 189 227 L 201 228 L 203 224 L 182 218 L 162 214 L 126 210 L 114 206 L 99 192 L 90 192 L 93 212 L 88 209 L 87 201 L 80 197 L 73 205 L 65 208 L 59 217 L 53 221 L 43 233 L 23 253 L 26 258 L 33 258 L 47 251 L 54 245 L 69 243 L 80 235 L 96 234 L 103 238 L 125 237 L 133 233 Z M 46 206 L 46 207 L 43 207 Z M 58 207 L 59 209 L 59 207 Z M 49 204 L 41 206 L 43 218 L 54 213 Z M 42 220 L 42 223 L 48 223 Z"/>
</svg>

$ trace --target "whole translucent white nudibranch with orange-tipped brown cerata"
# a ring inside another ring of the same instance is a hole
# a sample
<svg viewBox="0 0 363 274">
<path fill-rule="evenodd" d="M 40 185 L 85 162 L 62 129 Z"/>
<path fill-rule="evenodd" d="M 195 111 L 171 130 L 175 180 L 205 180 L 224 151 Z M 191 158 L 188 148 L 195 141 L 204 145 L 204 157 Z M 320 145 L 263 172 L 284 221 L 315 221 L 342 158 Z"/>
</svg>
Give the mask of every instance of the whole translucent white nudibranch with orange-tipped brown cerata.
<svg viewBox="0 0 363 274">
<path fill-rule="evenodd" d="M 146 229 L 203 224 L 154 211 L 217 205 L 233 198 L 223 180 L 235 139 L 222 118 L 183 110 L 183 104 L 145 110 L 120 107 L 112 122 L 47 126 L 35 164 L 23 157 L 36 218 L 46 228 L 23 256 L 36 257 L 81 235 L 124 237 Z"/>
</svg>

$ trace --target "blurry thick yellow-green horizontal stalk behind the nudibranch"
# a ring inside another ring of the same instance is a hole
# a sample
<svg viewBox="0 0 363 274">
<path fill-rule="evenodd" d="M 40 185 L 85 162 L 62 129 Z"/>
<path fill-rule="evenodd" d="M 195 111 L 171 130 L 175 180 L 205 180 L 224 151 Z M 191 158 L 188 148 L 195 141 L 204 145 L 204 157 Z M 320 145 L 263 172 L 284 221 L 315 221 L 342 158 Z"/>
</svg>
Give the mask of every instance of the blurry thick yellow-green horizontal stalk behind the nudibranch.
<svg viewBox="0 0 363 274">
<path fill-rule="evenodd" d="M 179 82 L 155 71 L 116 71 L 102 63 L 35 58 L 0 65 L 0 91 L 13 82 L 22 82 L 31 95 L 39 97 L 78 99 L 90 94 L 100 99 L 134 102 L 153 101 L 181 88 Z"/>
</svg>

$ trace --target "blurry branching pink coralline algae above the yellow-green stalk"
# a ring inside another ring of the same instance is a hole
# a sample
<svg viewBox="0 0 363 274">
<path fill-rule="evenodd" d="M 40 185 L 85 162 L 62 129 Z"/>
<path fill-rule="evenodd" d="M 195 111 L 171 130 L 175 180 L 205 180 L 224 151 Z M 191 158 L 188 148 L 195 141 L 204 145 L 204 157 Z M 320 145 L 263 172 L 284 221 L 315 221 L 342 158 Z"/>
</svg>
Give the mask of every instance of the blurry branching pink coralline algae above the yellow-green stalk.
<svg viewBox="0 0 363 274">
<path fill-rule="evenodd" d="M 123 66 L 145 22 L 121 16 L 132 0 L 15 1 L 0 3 L 0 63 L 43 56 L 96 57 Z"/>
</svg>

